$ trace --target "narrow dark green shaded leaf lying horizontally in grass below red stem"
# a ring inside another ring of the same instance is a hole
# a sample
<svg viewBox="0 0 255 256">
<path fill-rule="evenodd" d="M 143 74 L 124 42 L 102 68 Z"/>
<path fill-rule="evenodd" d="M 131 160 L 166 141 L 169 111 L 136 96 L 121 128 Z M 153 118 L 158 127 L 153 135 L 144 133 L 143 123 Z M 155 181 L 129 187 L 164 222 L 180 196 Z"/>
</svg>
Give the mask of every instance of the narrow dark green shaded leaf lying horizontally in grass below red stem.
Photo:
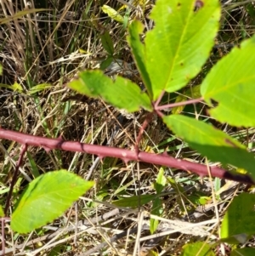
<svg viewBox="0 0 255 256">
<path fill-rule="evenodd" d="M 138 208 L 147 202 L 155 200 L 156 195 L 129 196 L 112 202 L 118 207 Z"/>
</svg>

